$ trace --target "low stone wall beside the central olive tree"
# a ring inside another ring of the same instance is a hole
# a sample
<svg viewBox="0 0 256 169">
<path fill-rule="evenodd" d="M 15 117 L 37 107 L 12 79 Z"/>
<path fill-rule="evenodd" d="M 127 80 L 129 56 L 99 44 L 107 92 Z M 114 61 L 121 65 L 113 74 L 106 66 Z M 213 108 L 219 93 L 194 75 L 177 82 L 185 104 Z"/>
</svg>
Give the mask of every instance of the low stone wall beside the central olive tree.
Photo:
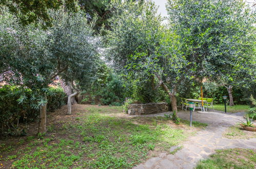
<svg viewBox="0 0 256 169">
<path fill-rule="evenodd" d="M 128 105 L 128 114 L 130 115 L 155 114 L 167 111 L 168 103 L 166 102 Z"/>
</svg>

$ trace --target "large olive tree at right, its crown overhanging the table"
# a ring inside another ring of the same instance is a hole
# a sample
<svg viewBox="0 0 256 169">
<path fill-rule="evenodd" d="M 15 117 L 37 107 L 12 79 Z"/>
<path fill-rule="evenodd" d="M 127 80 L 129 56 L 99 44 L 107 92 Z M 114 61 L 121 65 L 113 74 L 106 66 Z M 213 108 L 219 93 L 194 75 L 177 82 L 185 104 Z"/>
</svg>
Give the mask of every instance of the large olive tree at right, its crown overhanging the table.
<svg viewBox="0 0 256 169">
<path fill-rule="evenodd" d="M 232 105 L 232 86 L 255 82 L 255 8 L 241 0 L 174 0 L 167 11 L 196 79 L 225 85 Z"/>
</svg>

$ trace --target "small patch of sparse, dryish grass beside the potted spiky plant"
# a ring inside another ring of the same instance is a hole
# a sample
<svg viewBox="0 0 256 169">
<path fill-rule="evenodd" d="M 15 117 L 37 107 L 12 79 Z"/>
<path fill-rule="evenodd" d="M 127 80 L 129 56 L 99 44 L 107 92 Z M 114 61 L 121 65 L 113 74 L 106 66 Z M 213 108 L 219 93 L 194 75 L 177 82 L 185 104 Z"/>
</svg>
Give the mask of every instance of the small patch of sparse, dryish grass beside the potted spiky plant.
<svg viewBox="0 0 256 169">
<path fill-rule="evenodd" d="M 256 132 L 246 131 L 242 129 L 239 124 L 230 126 L 222 135 L 229 139 L 256 138 Z"/>
</svg>

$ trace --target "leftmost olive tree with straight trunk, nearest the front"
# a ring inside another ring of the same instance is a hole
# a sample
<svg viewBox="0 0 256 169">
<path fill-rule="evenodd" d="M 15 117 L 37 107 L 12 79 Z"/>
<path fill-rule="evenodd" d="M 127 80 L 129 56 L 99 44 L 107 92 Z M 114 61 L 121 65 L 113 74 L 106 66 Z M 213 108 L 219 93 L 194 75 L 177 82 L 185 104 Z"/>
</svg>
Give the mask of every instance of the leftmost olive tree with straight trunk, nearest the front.
<svg viewBox="0 0 256 169">
<path fill-rule="evenodd" d="M 92 27 L 84 13 L 53 13 L 54 27 L 42 30 L 34 25 L 22 27 L 3 9 L 1 15 L 1 74 L 5 82 L 29 88 L 40 108 L 38 132 L 46 132 L 46 91 L 57 76 L 90 78 L 85 73 L 97 55 L 92 50 Z M 88 66 L 88 68 L 87 68 Z M 81 69 L 79 69 L 81 68 Z M 8 72 L 8 73 L 6 73 Z M 73 73 L 73 74 L 72 74 Z M 79 75 L 77 75 L 79 74 Z M 22 102 L 26 98 L 20 98 Z"/>
</svg>

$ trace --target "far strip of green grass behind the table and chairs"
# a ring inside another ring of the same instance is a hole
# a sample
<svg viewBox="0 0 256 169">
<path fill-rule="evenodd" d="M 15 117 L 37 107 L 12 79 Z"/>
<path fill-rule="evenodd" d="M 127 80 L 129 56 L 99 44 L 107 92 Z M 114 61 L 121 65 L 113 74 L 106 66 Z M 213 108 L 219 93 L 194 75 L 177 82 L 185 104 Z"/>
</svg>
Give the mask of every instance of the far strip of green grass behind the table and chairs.
<svg viewBox="0 0 256 169">
<path fill-rule="evenodd" d="M 212 109 L 211 107 L 209 107 L 210 109 Z M 225 105 L 224 104 L 216 104 L 213 105 L 214 110 L 219 110 L 219 111 L 225 111 Z M 233 105 L 233 106 L 229 106 L 227 105 L 227 112 L 229 113 L 237 113 L 237 112 L 247 112 L 248 109 L 250 108 L 249 105 L 241 105 L 241 104 L 237 104 L 237 105 Z"/>
</svg>

